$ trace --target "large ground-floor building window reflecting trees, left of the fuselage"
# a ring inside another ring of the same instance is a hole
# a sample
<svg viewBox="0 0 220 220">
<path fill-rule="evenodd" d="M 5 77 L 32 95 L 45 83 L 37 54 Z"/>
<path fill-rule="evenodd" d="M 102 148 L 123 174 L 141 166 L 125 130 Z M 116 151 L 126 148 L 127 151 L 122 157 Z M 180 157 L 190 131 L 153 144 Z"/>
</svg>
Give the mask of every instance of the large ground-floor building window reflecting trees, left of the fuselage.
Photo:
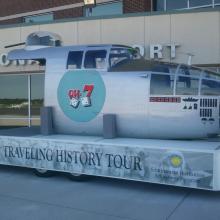
<svg viewBox="0 0 220 220">
<path fill-rule="evenodd" d="M 0 127 L 40 124 L 44 75 L 0 76 Z"/>
</svg>

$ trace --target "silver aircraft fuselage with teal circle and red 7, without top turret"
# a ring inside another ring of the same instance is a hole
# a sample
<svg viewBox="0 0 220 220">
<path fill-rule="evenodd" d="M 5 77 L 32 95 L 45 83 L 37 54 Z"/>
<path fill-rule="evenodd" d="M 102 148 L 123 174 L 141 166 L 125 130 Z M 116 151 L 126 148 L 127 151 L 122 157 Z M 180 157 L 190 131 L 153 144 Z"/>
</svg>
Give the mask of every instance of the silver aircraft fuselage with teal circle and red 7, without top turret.
<svg viewBox="0 0 220 220">
<path fill-rule="evenodd" d="M 60 134 L 102 135 L 105 114 L 116 115 L 120 137 L 196 139 L 219 134 L 217 74 L 153 61 L 142 61 L 146 65 L 140 68 L 132 53 L 125 56 L 129 51 L 121 45 L 48 47 L 14 50 L 9 59 L 46 60 L 44 105 L 53 107 L 54 128 Z M 97 59 L 92 65 L 93 55 Z"/>
</svg>

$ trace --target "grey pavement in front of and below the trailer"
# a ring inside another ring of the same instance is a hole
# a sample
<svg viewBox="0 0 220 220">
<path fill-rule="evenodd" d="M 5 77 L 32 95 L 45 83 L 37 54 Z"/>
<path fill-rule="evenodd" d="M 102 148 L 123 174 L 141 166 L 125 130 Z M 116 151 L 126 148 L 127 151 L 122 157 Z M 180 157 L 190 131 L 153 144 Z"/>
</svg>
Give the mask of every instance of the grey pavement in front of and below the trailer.
<svg viewBox="0 0 220 220">
<path fill-rule="evenodd" d="M 220 192 L 0 166 L 0 220 L 219 220 Z"/>
</svg>

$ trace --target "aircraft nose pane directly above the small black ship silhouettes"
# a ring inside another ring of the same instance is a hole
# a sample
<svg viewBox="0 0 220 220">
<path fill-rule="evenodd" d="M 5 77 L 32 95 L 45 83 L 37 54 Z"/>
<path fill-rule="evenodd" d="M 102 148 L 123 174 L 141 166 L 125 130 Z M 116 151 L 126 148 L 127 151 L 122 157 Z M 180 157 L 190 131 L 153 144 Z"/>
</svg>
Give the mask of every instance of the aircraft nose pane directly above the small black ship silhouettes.
<svg viewBox="0 0 220 220">
<path fill-rule="evenodd" d="M 176 84 L 177 95 L 198 95 L 199 79 L 187 76 L 178 76 Z"/>
</svg>

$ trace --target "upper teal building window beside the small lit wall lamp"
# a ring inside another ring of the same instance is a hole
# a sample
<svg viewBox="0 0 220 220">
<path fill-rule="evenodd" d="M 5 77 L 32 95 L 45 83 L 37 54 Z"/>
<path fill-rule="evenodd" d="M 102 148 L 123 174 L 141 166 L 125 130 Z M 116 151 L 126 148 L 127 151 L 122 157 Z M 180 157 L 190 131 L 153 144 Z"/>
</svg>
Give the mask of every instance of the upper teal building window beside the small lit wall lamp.
<svg viewBox="0 0 220 220">
<path fill-rule="evenodd" d="M 117 15 L 123 13 L 122 1 L 98 4 L 94 8 L 85 8 L 84 14 L 88 16 Z"/>
</svg>

